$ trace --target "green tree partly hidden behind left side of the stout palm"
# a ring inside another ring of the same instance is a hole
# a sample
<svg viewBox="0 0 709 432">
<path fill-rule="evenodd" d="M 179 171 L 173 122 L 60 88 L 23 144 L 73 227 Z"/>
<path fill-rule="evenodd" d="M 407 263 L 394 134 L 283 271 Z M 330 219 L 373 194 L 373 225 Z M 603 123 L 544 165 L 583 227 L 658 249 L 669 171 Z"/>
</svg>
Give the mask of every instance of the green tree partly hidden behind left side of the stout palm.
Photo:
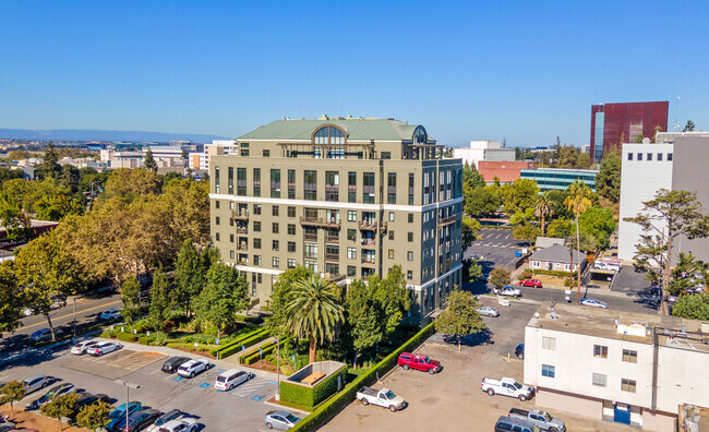
<svg viewBox="0 0 709 432">
<path fill-rule="evenodd" d="M 286 308 L 292 301 L 292 288 L 297 281 L 308 280 L 314 275 L 313 271 L 299 265 L 289 268 L 278 275 L 278 279 L 273 285 L 273 290 L 268 299 L 267 310 L 271 315 L 266 316 L 265 326 L 271 334 L 280 339 L 290 335 L 286 323 Z"/>
</svg>

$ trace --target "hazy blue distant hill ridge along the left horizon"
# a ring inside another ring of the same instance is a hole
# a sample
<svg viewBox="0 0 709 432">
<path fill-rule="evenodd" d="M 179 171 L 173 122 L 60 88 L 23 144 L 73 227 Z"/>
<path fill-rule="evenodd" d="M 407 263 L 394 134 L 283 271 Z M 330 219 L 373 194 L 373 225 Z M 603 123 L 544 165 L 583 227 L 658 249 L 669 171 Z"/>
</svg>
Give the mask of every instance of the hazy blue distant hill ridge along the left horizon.
<svg viewBox="0 0 709 432">
<path fill-rule="evenodd" d="M 33 131 L 29 129 L 2 129 L 0 140 L 28 140 L 28 141 L 168 141 L 190 140 L 196 143 L 211 143 L 212 140 L 226 140 L 224 136 L 205 135 L 199 133 L 167 133 L 144 131 L 96 131 L 79 129 L 55 129 L 48 131 Z"/>
</svg>

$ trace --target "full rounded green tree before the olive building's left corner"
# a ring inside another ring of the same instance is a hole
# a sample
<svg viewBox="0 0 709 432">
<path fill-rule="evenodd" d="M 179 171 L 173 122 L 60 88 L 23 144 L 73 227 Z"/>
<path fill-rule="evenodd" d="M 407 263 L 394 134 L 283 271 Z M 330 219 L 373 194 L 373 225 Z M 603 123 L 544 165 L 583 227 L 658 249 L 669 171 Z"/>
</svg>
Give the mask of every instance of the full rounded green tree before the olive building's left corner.
<svg viewBox="0 0 709 432">
<path fill-rule="evenodd" d="M 217 339 L 221 329 L 235 322 L 237 312 L 249 308 L 249 283 L 235 267 L 215 263 L 207 272 L 206 286 L 197 297 L 194 312 L 200 320 L 217 327 Z"/>
</svg>

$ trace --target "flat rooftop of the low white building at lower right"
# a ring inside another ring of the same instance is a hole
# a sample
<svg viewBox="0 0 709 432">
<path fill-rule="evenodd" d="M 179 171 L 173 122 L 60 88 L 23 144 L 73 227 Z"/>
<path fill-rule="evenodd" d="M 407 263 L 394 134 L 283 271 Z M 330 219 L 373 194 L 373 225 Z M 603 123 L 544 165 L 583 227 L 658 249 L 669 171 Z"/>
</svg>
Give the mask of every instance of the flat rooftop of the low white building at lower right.
<svg viewBox="0 0 709 432">
<path fill-rule="evenodd" d="M 542 303 L 537 312 L 539 317 L 532 316 L 528 327 L 649 345 L 657 333 L 661 346 L 709 353 L 709 323 L 699 320 L 577 304 L 556 303 L 552 309 L 549 302 Z"/>
</svg>

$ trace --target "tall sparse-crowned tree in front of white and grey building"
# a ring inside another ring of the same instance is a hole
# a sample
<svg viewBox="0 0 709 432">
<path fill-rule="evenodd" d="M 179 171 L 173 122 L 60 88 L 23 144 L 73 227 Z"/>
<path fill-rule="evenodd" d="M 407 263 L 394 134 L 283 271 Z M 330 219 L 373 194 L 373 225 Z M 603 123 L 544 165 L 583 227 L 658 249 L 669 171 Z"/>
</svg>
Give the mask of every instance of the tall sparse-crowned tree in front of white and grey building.
<svg viewBox="0 0 709 432">
<path fill-rule="evenodd" d="M 642 205 L 642 213 L 625 220 L 638 224 L 645 232 L 636 244 L 635 261 L 638 266 L 647 267 L 653 262 L 664 271 L 660 313 L 666 315 L 672 244 L 680 236 L 688 239 L 709 236 L 709 216 L 705 214 L 696 193 L 682 190 L 660 189 L 652 200 Z"/>
</svg>

